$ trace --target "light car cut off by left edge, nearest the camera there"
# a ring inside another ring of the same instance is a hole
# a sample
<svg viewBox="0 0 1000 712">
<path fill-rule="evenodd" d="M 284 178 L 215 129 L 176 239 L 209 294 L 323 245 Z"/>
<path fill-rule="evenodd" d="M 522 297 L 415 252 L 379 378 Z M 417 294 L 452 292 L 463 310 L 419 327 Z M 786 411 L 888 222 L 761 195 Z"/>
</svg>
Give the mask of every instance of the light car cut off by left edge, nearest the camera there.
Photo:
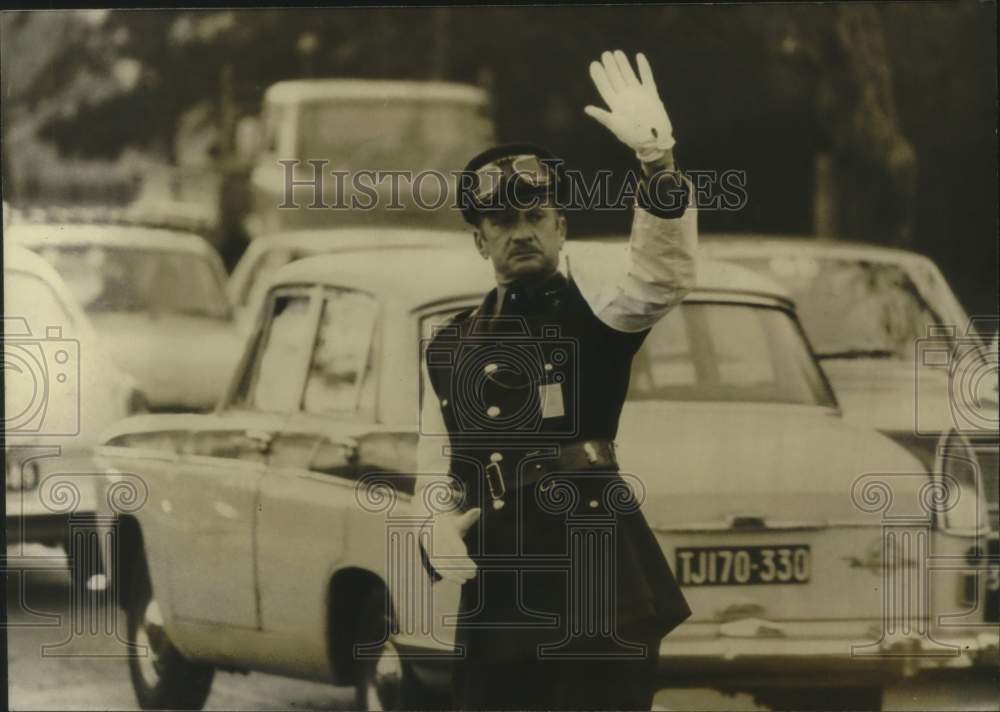
<svg viewBox="0 0 1000 712">
<path fill-rule="evenodd" d="M 70 549 L 96 510 L 92 448 L 142 395 L 45 260 L 8 243 L 3 274 L 7 543 L 67 548 L 81 578 L 93 559 Z"/>
</svg>

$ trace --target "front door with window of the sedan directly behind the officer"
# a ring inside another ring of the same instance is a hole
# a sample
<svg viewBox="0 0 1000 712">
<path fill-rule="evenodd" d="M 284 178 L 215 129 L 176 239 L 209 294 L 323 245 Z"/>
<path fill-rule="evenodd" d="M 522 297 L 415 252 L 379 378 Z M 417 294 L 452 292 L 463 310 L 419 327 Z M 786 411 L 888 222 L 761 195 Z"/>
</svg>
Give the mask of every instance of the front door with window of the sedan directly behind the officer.
<svg viewBox="0 0 1000 712">
<path fill-rule="evenodd" d="M 200 420 L 182 451 L 183 486 L 173 488 L 174 545 L 190 552 L 171 577 L 179 618 L 260 625 L 255 570 L 259 486 L 300 390 L 316 313 L 308 290 L 278 290 L 233 392 Z"/>
</svg>

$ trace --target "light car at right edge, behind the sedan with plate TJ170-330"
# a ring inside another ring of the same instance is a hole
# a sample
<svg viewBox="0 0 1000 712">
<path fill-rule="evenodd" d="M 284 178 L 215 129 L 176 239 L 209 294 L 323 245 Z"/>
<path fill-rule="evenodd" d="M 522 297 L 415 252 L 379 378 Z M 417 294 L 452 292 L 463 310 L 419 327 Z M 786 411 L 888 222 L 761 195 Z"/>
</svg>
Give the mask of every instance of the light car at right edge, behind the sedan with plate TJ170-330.
<svg viewBox="0 0 1000 712">
<path fill-rule="evenodd" d="M 848 418 L 901 439 L 954 429 L 995 430 L 995 361 L 994 378 L 977 382 L 975 402 L 963 404 L 952 402 L 952 395 L 961 395 L 952 369 L 962 364 L 917 368 L 928 341 L 959 350 L 954 354 L 959 360 L 966 350 L 970 362 L 988 357 L 988 331 L 998 326 L 996 317 L 970 320 L 927 257 L 815 238 L 739 235 L 704 236 L 700 249 L 789 291 Z M 965 422 L 958 406 L 983 412 L 965 413 Z M 991 408 L 992 428 L 975 427 L 990 425 Z"/>
</svg>

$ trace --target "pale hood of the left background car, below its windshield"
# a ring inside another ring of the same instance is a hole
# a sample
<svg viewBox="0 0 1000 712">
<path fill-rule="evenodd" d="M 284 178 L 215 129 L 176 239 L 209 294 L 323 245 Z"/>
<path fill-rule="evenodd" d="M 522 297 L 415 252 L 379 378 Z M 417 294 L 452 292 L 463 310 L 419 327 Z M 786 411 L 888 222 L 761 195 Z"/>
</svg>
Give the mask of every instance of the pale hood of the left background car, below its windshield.
<svg viewBox="0 0 1000 712">
<path fill-rule="evenodd" d="M 243 348 L 231 321 L 132 314 L 98 314 L 92 321 L 153 408 L 211 408 Z"/>
</svg>

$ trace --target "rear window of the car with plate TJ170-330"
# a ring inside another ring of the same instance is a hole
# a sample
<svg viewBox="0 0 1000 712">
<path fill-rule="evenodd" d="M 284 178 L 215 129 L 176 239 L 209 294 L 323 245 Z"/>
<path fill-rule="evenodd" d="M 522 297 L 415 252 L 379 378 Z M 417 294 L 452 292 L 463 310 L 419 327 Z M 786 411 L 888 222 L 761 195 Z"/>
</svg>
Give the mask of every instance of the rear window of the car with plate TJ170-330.
<svg viewBox="0 0 1000 712">
<path fill-rule="evenodd" d="M 795 321 L 778 308 L 685 303 L 632 362 L 629 400 L 833 405 Z"/>
</svg>

